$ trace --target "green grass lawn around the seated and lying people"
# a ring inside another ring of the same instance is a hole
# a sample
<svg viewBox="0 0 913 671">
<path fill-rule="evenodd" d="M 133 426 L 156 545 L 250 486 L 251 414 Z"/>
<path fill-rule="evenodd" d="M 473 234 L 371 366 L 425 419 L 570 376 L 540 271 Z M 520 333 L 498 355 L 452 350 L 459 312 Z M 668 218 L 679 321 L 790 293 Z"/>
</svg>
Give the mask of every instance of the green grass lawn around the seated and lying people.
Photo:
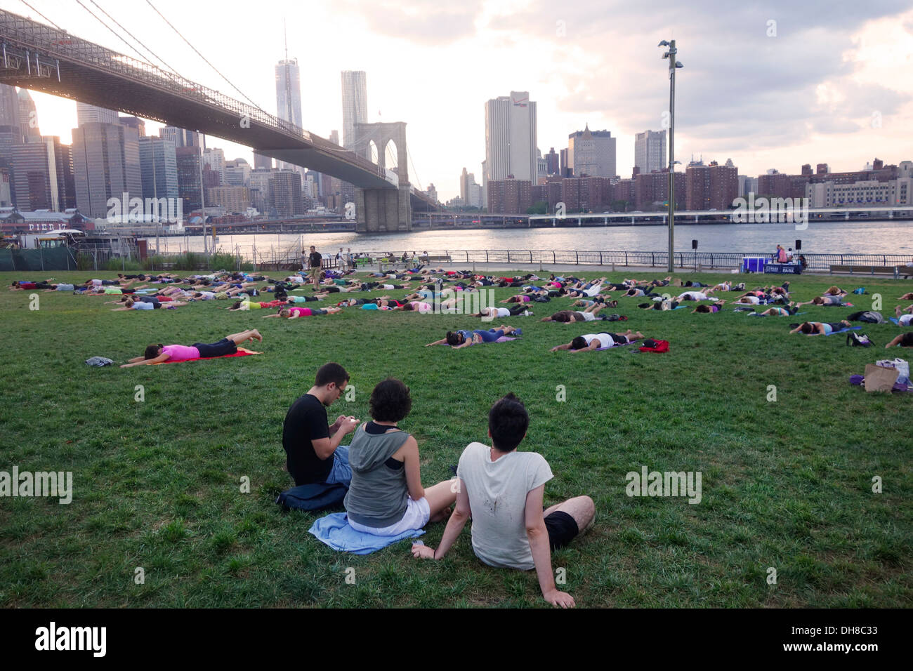
<svg viewBox="0 0 913 671">
<path fill-rule="evenodd" d="M 20 278 L 0 276 L 6 286 Z M 795 278 L 793 297 L 819 295 L 830 280 Z M 913 289 L 887 279 L 837 283 L 879 292 L 886 316 Z M 763 319 L 729 309 L 646 312 L 635 308 L 640 299 L 622 299 L 608 311 L 670 341 L 671 351 L 569 354 L 548 350 L 593 329 L 538 321 L 568 299 L 534 304 L 535 318 L 506 320 L 523 328 L 522 340 L 451 351 L 423 345 L 446 330 L 478 328 L 477 320 L 361 309 L 262 320 L 226 311 L 227 301 L 110 312 L 102 298 L 56 293 L 40 293 L 33 311 L 28 292 L 0 294 L 0 469 L 74 474 L 69 505 L 0 498 L 5 607 L 546 606 L 533 571 L 478 561 L 469 529 L 444 561 L 415 561 L 408 543 L 359 557 L 313 539 L 316 515 L 273 504 L 293 484 L 282 470 L 282 421 L 328 361 L 345 365 L 356 389 L 331 417 L 366 419 L 373 384 L 388 375 L 411 387 L 413 412 L 401 425 L 418 440 L 425 484 L 450 477 L 463 447 L 485 440 L 490 404 L 518 393 L 531 420 L 520 448 L 540 452 L 555 473 L 546 504 L 580 494 L 596 503 L 590 533 L 552 557 L 582 606 L 913 601 L 911 398 L 848 383 L 887 356 L 883 347 L 787 335 L 791 321 L 839 320 L 870 308 L 870 296 L 851 297 L 853 309 L 810 306 L 799 318 Z M 510 294 L 498 289 L 497 298 Z M 263 333 L 263 355 L 131 369 L 83 363 L 93 355 L 120 363 L 150 342 L 216 341 L 246 328 Z M 883 345 L 899 330 L 863 332 Z M 142 403 L 134 401 L 137 384 Z M 564 403 L 556 401 L 560 384 Z M 775 403 L 767 400 L 771 384 Z M 624 476 L 642 466 L 701 471 L 702 501 L 628 498 Z M 245 476 L 249 494 L 240 492 Z M 872 492 L 875 476 L 883 493 Z M 436 545 L 443 529 L 430 525 L 425 543 Z M 143 584 L 134 582 L 137 567 Z"/>
</svg>

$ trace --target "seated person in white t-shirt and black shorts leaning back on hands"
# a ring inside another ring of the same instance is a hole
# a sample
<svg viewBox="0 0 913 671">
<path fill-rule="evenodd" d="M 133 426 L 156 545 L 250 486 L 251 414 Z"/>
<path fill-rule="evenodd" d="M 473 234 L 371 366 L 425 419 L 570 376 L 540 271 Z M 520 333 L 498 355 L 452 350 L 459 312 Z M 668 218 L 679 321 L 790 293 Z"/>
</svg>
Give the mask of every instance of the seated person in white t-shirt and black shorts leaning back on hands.
<svg viewBox="0 0 913 671">
<path fill-rule="evenodd" d="M 555 587 L 551 551 L 570 543 L 593 525 L 596 507 L 587 496 L 569 498 L 545 510 L 549 463 L 536 452 L 519 452 L 530 415 L 513 393 L 488 411 L 491 446 L 470 443 L 456 467 L 456 509 L 440 545 L 413 545 L 416 559 L 440 560 L 472 517 L 472 550 L 488 566 L 536 570 L 542 598 L 572 608 L 571 594 Z M 492 502 L 497 501 L 498 505 Z"/>
</svg>

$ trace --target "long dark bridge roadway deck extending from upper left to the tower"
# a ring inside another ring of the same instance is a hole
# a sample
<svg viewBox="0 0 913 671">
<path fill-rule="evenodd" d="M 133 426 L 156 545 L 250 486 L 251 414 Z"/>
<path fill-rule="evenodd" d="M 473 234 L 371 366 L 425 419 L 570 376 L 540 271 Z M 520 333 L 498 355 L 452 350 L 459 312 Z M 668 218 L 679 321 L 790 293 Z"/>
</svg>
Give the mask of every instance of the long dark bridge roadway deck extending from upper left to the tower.
<svg viewBox="0 0 913 671">
<path fill-rule="evenodd" d="M 0 39 L 2 83 L 200 131 L 361 189 L 399 187 L 382 167 L 289 121 L 66 31 L 0 10 Z M 421 192 L 411 200 L 431 205 Z"/>
</svg>

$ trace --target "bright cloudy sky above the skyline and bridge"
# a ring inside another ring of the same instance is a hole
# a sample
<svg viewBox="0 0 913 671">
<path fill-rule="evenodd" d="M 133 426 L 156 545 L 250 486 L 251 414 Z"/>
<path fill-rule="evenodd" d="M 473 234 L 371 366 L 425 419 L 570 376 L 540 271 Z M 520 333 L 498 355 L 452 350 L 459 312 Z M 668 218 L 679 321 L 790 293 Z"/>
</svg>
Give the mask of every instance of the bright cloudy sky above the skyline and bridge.
<svg viewBox="0 0 913 671">
<path fill-rule="evenodd" d="M 77 0 L 27 2 L 70 33 L 135 57 Z M 99 16 L 103 8 L 184 77 L 241 98 L 146 0 L 81 2 Z M 683 163 L 692 154 L 705 163 L 731 158 L 740 173 L 757 175 L 798 173 L 803 163 L 844 171 L 876 156 L 913 159 L 909 0 L 152 4 L 274 113 L 285 20 L 289 57 L 301 67 L 304 127 L 324 137 L 341 129 L 340 71 L 365 70 L 368 121 L 408 124 L 410 178 L 423 188 L 435 183 L 442 201 L 458 194 L 464 166 L 481 182 L 484 104 L 511 90 L 528 90 L 538 103 L 543 154 L 566 147 L 568 133 L 588 123 L 618 138 L 617 170 L 630 176 L 635 132 L 659 130 L 668 107 L 667 64 L 656 44 L 672 38 L 685 65 L 676 82 Z M 22 0 L 0 0 L 0 8 L 42 20 Z M 69 142 L 75 103 L 33 96 L 42 133 Z M 210 138 L 207 146 L 252 160 L 240 145 Z"/>
</svg>

